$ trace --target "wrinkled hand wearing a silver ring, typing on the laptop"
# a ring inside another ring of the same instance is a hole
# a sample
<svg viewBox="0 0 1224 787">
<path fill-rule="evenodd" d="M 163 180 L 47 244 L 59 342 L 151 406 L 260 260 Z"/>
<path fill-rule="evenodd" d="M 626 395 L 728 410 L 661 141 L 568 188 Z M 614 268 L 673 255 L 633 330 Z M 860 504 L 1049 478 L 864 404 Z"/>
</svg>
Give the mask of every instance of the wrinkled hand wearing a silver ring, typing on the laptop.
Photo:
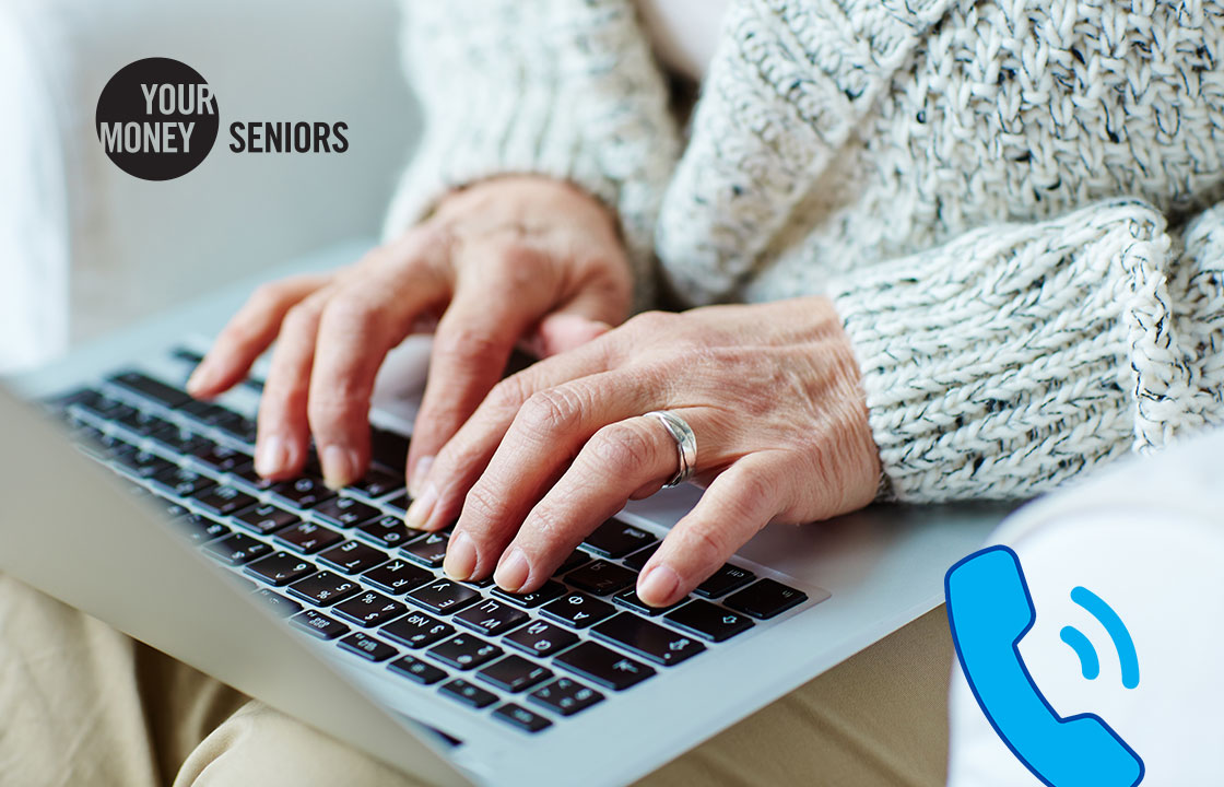
<svg viewBox="0 0 1224 787">
<path fill-rule="evenodd" d="M 827 299 L 803 297 L 640 315 L 504 379 L 438 454 L 409 525 L 458 518 L 448 575 L 493 572 L 506 590 L 536 590 L 627 501 L 676 475 L 676 439 L 651 410 L 693 428 L 707 488 L 643 569 L 649 605 L 683 599 L 769 523 L 875 497 L 849 340 Z"/>
</svg>

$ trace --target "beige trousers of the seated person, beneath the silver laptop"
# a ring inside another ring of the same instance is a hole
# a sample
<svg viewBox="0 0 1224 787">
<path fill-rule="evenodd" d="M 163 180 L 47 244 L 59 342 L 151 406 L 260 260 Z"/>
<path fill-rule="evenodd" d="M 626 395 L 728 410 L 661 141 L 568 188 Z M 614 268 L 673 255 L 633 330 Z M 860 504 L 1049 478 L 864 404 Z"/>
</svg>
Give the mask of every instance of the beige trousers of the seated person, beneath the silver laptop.
<svg viewBox="0 0 1224 787">
<path fill-rule="evenodd" d="M 741 721 L 643 785 L 942 785 L 942 610 Z M 415 785 L 0 575 L 0 785 Z"/>
</svg>

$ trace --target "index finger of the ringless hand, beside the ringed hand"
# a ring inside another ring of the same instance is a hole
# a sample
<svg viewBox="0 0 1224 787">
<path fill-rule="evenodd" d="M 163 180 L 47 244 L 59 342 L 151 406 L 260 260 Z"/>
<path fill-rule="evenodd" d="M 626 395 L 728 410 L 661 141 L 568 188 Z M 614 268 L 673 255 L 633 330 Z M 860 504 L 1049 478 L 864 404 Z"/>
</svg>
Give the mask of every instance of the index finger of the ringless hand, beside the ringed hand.
<svg viewBox="0 0 1224 787">
<path fill-rule="evenodd" d="M 409 449 L 409 492 L 420 494 L 438 450 L 497 384 L 519 337 L 548 307 L 507 261 L 481 266 L 480 280 L 460 278 L 433 337 L 430 376 Z"/>
</svg>

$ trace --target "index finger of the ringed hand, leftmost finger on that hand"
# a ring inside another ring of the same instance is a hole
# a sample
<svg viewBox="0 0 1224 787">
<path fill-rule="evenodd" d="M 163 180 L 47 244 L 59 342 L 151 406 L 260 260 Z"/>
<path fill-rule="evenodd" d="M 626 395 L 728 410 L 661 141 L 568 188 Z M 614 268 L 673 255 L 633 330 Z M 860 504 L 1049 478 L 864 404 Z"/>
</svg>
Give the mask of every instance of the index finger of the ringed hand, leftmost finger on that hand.
<svg viewBox="0 0 1224 787">
<path fill-rule="evenodd" d="M 405 514 L 409 528 L 438 530 L 459 517 L 464 496 L 488 465 L 523 404 L 553 386 L 596 375 L 617 359 L 612 337 L 534 364 L 497 383 L 438 452 Z"/>
</svg>

